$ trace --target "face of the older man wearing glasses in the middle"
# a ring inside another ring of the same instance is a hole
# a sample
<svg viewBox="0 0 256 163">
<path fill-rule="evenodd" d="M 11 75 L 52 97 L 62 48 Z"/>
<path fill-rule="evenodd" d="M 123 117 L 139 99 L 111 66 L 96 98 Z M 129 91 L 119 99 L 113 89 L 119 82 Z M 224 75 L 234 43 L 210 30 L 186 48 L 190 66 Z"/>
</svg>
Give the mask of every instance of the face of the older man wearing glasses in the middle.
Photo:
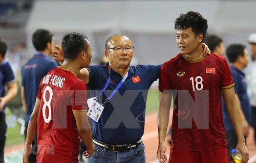
<svg viewBox="0 0 256 163">
<path fill-rule="evenodd" d="M 110 40 L 109 48 L 114 47 L 131 47 L 133 44 L 131 40 L 125 36 L 116 36 Z M 127 68 L 133 58 L 133 49 L 129 52 L 125 49 L 118 51 L 117 49 L 108 49 L 105 52 L 105 56 L 109 59 L 110 66 L 112 68 Z"/>
</svg>

